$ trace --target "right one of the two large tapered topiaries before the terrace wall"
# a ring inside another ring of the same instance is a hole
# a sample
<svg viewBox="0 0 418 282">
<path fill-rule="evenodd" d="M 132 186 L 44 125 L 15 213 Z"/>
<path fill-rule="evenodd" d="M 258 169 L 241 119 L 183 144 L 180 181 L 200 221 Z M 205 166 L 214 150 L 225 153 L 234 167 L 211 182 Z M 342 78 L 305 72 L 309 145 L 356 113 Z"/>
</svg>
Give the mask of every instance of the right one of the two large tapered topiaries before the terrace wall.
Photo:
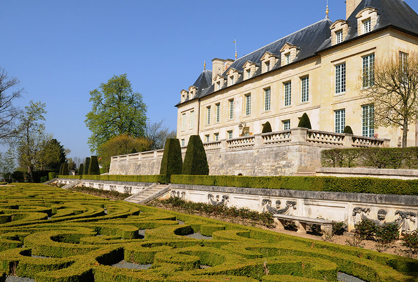
<svg viewBox="0 0 418 282">
<path fill-rule="evenodd" d="M 205 148 L 199 135 L 191 135 L 184 156 L 182 174 L 208 175 L 209 166 Z"/>
</svg>

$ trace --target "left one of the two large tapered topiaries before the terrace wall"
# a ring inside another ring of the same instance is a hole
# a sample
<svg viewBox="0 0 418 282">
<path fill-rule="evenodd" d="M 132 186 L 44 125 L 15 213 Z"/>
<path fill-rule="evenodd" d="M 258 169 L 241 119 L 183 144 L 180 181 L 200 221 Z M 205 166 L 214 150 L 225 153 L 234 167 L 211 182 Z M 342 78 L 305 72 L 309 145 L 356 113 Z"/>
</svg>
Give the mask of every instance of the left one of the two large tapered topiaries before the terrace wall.
<svg viewBox="0 0 418 282">
<path fill-rule="evenodd" d="M 181 174 L 183 168 L 182 149 L 176 138 L 167 138 L 161 160 L 160 174 L 170 180 L 171 174 Z"/>
</svg>

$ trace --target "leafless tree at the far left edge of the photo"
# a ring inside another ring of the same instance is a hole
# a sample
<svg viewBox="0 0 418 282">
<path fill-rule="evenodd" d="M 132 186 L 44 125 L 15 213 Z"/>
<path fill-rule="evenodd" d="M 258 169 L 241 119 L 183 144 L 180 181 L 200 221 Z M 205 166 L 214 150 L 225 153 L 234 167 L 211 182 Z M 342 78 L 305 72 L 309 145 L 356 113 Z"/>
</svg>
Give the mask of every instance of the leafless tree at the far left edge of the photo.
<svg viewBox="0 0 418 282">
<path fill-rule="evenodd" d="M 0 143 L 5 143 L 17 132 L 14 122 L 21 110 L 12 102 L 22 96 L 23 88 L 17 88 L 19 83 L 19 79 L 9 78 L 6 70 L 0 67 Z"/>
</svg>

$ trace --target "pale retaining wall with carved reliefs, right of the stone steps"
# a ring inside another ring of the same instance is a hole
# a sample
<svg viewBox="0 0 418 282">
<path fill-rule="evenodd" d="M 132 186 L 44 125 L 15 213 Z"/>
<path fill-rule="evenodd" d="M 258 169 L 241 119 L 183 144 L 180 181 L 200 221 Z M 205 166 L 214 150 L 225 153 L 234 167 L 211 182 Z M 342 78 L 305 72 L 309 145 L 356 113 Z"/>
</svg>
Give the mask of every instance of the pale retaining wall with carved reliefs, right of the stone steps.
<svg viewBox="0 0 418 282">
<path fill-rule="evenodd" d="M 417 228 L 418 196 L 337 193 L 172 184 L 171 195 L 192 202 L 246 207 L 258 212 L 345 221 L 348 230 L 363 218 Z"/>
</svg>

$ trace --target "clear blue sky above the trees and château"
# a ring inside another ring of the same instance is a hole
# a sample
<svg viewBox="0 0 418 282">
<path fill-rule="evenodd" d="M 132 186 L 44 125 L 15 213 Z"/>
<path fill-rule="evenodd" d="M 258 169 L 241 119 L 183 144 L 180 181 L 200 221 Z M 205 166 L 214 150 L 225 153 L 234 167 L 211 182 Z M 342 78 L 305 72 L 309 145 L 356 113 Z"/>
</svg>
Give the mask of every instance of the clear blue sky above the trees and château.
<svg viewBox="0 0 418 282">
<path fill-rule="evenodd" d="M 418 11 L 418 1 L 407 0 Z M 70 156 L 90 155 L 89 91 L 128 74 L 151 122 L 175 129 L 180 91 L 211 59 L 238 57 L 325 17 L 326 0 L 2 1 L 0 66 L 29 100 L 46 103 L 46 128 Z M 344 0 L 329 0 L 345 19 Z"/>
</svg>

